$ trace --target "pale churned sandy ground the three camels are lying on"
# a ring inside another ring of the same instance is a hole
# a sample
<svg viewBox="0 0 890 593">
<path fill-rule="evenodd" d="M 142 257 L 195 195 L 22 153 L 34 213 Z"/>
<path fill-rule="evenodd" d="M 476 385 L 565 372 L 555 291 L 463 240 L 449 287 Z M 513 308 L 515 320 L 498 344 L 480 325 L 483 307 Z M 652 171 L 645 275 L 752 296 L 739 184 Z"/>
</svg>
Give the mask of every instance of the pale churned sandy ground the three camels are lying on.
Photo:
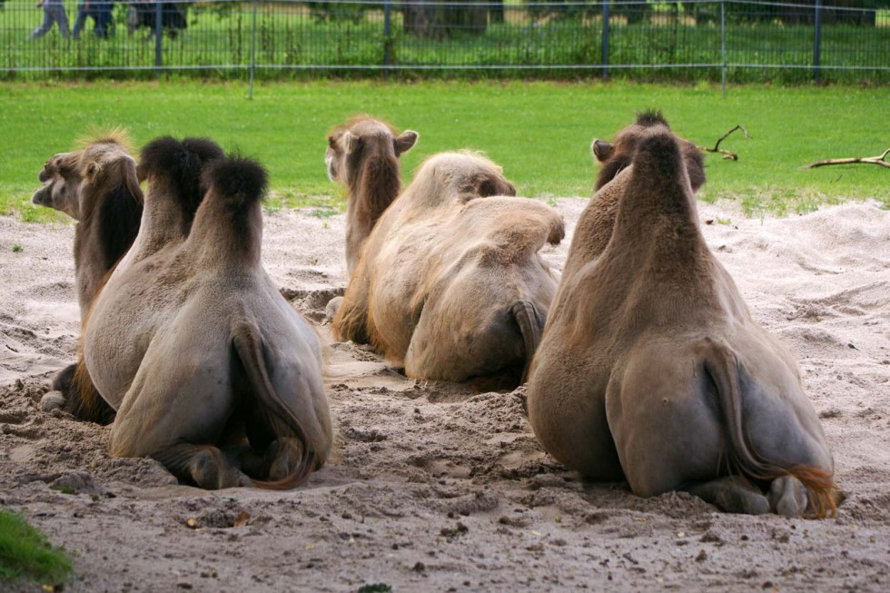
<svg viewBox="0 0 890 593">
<path fill-rule="evenodd" d="M 585 203 L 559 201 L 569 236 L 546 251 L 557 268 Z M 410 381 L 351 343 L 329 351 L 339 452 L 307 486 L 179 486 L 152 460 L 109 459 L 107 428 L 38 410 L 74 357 L 73 227 L 8 217 L 0 503 L 71 552 L 70 591 L 888 590 L 890 212 L 700 215 L 756 320 L 800 362 L 848 494 L 836 519 L 730 516 L 684 493 L 583 481 L 540 450 L 521 388 Z M 345 285 L 342 236 L 342 217 L 266 217 L 266 267 L 314 321 Z"/>
</svg>

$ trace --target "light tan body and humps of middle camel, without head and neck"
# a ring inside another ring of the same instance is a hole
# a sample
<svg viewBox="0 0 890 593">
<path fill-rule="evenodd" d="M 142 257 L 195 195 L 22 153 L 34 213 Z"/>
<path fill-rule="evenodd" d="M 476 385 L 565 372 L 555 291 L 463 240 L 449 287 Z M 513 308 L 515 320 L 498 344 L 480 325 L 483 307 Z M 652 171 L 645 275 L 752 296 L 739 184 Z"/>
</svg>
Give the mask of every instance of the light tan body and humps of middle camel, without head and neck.
<svg viewBox="0 0 890 593">
<path fill-rule="evenodd" d="M 518 383 L 556 291 L 538 252 L 565 232 L 515 193 L 478 155 L 430 157 L 365 242 L 335 337 L 371 341 L 409 377 Z"/>
</svg>

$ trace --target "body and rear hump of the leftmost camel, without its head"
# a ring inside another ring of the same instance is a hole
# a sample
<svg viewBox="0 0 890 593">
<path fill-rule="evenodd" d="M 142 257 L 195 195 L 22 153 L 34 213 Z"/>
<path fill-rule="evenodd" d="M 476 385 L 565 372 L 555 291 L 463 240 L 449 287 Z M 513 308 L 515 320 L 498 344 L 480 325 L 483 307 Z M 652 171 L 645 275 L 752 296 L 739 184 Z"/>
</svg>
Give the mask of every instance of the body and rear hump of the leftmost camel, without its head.
<svg viewBox="0 0 890 593">
<path fill-rule="evenodd" d="M 153 191 L 170 187 L 175 149 L 143 159 L 135 245 L 182 220 L 183 195 Z M 202 180 L 188 237 L 122 262 L 86 327 L 86 366 L 117 410 L 111 454 L 152 457 L 205 489 L 292 488 L 331 447 L 321 344 L 262 269 L 265 171 L 216 159 Z"/>
</svg>

